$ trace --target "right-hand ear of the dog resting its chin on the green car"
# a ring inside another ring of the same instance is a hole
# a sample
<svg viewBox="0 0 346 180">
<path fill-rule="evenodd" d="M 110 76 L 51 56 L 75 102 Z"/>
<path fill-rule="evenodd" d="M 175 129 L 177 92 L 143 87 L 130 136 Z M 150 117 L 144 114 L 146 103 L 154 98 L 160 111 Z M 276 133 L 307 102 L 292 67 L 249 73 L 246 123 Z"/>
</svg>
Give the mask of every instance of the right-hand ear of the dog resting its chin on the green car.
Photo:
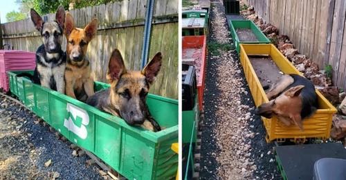
<svg viewBox="0 0 346 180">
<path fill-rule="evenodd" d="M 162 65 L 162 55 L 161 52 L 157 52 L 152 58 L 147 66 L 142 70 L 142 74 L 145 75 L 145 78 L 149 83 L 154 83 L 158 71 L 160 71 Z"/>
</svg>

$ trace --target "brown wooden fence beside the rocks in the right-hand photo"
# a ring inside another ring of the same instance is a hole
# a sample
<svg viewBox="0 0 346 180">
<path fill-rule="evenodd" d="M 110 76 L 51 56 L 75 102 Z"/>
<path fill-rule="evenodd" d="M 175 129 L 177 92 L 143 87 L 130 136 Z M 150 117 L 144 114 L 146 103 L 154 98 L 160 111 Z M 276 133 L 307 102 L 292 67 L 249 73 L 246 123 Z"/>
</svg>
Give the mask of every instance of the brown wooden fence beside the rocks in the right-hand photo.
<svg viewBox="0 0 346 180">
<path fill-rule="evenodd" d="M 333 82 L 346 89 L 345 0 L 244 0 L 267 23 L 290 37 L 295 48 L 318 63 L 331 65 Z"/>
</svg>

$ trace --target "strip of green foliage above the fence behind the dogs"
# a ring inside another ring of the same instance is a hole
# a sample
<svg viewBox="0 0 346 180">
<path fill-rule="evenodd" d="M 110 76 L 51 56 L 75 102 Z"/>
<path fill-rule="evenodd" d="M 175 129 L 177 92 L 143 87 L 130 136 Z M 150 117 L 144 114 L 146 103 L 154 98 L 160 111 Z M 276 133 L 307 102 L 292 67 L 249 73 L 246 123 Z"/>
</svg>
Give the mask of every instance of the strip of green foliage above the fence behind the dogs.
<svg viewBox="0 0 346 180">
<path fill-rule="evenodd" d="M 74 3 L 74 8 L 84 8 L 88 6 L 98 6 L 103 3 L 110 3 L 119 0 L 21 0 L 21 6 L 23 10 L 29 10 L 30 8 L 34 8 L 39 14 L 48 14 L 56 12 L 57 7 L 60 5 L 64 6 L 65 10 L 69 10 L 69 4 Z"/>
</svg>

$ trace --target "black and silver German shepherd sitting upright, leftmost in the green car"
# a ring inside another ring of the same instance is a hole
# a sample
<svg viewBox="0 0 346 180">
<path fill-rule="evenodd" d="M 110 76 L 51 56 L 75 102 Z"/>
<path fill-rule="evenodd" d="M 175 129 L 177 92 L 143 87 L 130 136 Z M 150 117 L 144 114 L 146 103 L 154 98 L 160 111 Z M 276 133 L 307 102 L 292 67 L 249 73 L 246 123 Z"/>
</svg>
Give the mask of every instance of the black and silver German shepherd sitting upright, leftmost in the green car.
<svg viewBox="0 0 346 180">
<path fill-rule="evenodd" d="M 33 82 L 64 94 L 66 54 L 61 46 L 65 21 L 64 7 L 57 8 L 55 21 L 44 22 L 33 9 L 30 10 L 30 16 L 35 28 L 41 33 L 43 42 L 36 51 Z"/>
</svg>

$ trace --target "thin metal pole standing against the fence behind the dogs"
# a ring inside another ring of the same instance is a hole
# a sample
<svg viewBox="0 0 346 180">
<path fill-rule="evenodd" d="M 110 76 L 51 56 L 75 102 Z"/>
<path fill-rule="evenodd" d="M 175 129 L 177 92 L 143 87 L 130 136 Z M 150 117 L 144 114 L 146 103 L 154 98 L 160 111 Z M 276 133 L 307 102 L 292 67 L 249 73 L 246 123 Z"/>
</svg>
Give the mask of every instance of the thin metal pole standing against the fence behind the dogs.
<svg viewBox="0 0 346 180">
<path fill-rule="evenodd" d="M 154 11 L 154 1 L 147 0 L 147 11 L 145 12 L 145 25 L 144 25 L 144 37 L 143 37 L 143 48 L 142 48 L 142 68 L 147 64 L 149 45 L 150 45 L 150 34 L 152 31 L 152 14 Z"/>
</svg>

